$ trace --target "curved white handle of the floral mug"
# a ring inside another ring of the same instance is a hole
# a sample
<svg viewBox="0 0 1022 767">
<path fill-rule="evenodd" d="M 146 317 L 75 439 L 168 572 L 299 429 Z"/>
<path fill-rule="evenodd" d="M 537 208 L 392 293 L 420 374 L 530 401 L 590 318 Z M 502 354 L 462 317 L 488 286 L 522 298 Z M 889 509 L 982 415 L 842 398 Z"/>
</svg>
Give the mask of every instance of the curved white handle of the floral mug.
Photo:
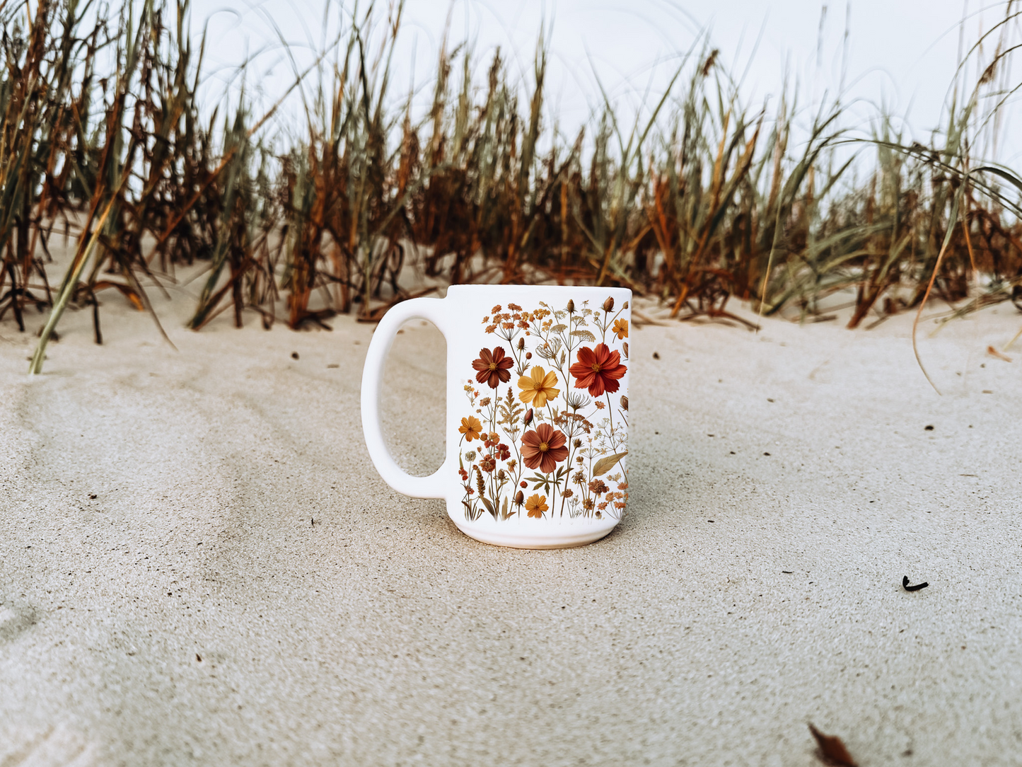
<svg viewBox="0 0 1022 767">
<path fill-rule="evenodd" d="M 383 481 L 399 493 L 413 498 L 445 498 L 444 481 L 447 459 L 435 472 L 428 477 L 412 477 L 406 472 L 390 455 L 383 428 L 380 425 L 379 392 L 383 374 L 383 363 L 402 324 L 413 319 L 432 322 L 445 332 L 447 306 L 443 299 L 410 299 L 394 305 L 376 325 L 376 332 L 369 342 L 365 367 L 362 370 L 362 431 L 366 439 L 369 457 Z M 447 388 L 445 387 L 445 392 Z"/>
</svg>

